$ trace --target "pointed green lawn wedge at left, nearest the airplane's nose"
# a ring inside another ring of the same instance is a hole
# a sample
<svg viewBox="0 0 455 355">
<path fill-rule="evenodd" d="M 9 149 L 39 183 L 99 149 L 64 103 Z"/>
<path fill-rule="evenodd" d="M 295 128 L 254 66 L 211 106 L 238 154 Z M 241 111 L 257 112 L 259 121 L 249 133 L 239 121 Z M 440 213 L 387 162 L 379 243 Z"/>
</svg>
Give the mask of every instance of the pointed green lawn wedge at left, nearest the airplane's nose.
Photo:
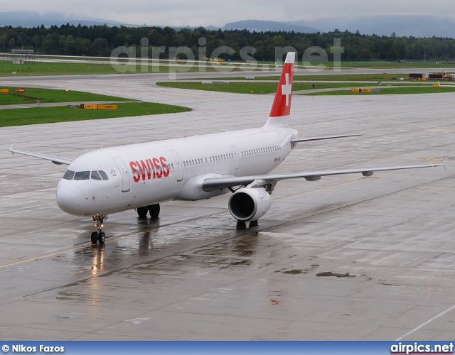
<svg viewBox="0 0 455 355">
<path fill-rule="evenodd" d="M 188 107 L 150 102 L 118 103 L 117 109 L 80 109 L 79 106 L 4 109 L 0 110 L 0 127 L 82 121 L 87 119 L 144 116 L 150 114 L 171 114 L 185 111 L 191 111 L 191 109 Z"/>
</svg>

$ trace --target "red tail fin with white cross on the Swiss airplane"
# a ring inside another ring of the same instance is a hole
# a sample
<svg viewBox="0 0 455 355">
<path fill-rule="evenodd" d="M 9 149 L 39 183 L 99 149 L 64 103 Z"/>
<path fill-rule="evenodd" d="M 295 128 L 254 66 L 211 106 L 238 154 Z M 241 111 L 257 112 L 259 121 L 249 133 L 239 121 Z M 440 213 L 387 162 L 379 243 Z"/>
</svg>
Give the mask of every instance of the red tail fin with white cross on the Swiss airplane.
<svg viewBox="0 0 455 355">
<path fill-rule="evenodd" d="M 282 75 L 279 78 L 277 92 L 270 111 L 267 125 L 289 126 L 291 114 L 292 80 L 294 78 L 295 52 L 289 52 L 284 61 Z"/>
</svg>

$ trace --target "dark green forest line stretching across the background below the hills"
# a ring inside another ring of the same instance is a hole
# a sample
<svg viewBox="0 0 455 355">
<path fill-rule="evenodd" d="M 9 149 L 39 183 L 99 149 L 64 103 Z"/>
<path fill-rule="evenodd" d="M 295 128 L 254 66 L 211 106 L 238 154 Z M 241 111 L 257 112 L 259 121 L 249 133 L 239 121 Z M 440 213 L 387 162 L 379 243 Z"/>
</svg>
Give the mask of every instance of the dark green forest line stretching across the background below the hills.
<svg viewBox="0 0 455 355">
<path fill-rule="evenodd" d="M 455 58 L 455 39 L 399 37 L 392 33 L 385 35 L 364 35 L 360 31 L 338 31 L 328 33 L 295 33 L 284 31 L 250 32 L 247 30 L 208 30 L 199 28 L 174 29 L 170 27 L 126 27 L 126 26 L 63 26 L 43 25 L 33 28 L 0 27 L 0 50 L 33 49 L 48 55 L 87 55 L 109 57 L 119 46 L 136 47 L 137 56 L 146 53 L 152 56 L 152 49 L 164 47 L 161 58 L 169 58 L 169 48 L 188 47 L 198 59 L 201 45 L 198 40 L 206 40 L 204 46 L 208 57 L 215 48 L 227 46 L 235 53 L 220 55 L 219 58 L 241 60 L 240 50 L 246 46 L 255 48 L 252 55 L 256 60 L 275 60 L 275 48 L 291 46 L 297 50 L 299 58 L 309 47 L 326 50 L 328 60 L 332 60 L 333 40 L 341 39 L 344 53 L 342 60 L 449 60 Z M 144 38 L 147 41 L 144 42 Z M 142 42 L 141 42 L 142 40 Z M 205 41 L 204 41 L 205 42 Z M 182 58 L 183 59 L 183 58 Z"/>
</svg>

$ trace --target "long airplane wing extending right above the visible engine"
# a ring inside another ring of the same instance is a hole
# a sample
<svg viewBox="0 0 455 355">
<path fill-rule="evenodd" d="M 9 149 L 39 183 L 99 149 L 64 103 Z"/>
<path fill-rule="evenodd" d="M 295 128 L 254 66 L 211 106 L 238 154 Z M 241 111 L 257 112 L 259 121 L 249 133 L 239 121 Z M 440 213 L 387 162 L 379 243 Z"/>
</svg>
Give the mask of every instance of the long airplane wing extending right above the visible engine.
<svg viewBox="0 0 455 355">
<path fill-rule="evenodd" d="M 250 185 L 252 182 L 260 180 L 264 182 L 263 185 L 271 182 L 277 182 L 279 180 L 305 178 L 308 181 L 316 181 L 321 179 L 323 176 L 329 175 L 343 175 L 343 174 L 355 174 L 362 173 L 363 176 L 371 176 L 375 171 L 384 170 L 403 170 L 403 169 L 418 169 L 418 168 L 434 168 L 437 166 L 444 166 L 446 162 L 441 164 L 431 165 L 404 165 L 404 166 L 392 166 L 382 168 L 363 168 L 363 169 L 350 169 L 350 170 L 326 170 L 326 171 L 309 171 L 303 173 L 294 174 L 279 174 L 279 175 L 256 175 L 256 176 L 242 176 L 238 178 L 207 178 L 203 181 L 202 189 L 210 192 L 215 190 L 221 190 L 228 187 Z"/>
</svg>

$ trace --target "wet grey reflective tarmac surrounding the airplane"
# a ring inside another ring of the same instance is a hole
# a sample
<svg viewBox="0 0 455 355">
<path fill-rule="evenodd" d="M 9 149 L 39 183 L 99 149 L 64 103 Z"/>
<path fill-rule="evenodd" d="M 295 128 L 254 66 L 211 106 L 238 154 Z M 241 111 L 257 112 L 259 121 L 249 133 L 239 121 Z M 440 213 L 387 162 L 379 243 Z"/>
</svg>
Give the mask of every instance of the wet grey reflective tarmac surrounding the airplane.
<svg viewBox="0 0 455 355">
<path fill-rule="evenodd" d="M 15 78 L 16 84 L 31 80 Z M 7 85 L 7 84 L 6 84 Z M 228 196 L 166 202 L 159 219 L 94 223 L 55 204 L 67 158 L 102 146 L 263 124 L 269 95 L 181 91 L 148 77 L 33 85 L 181 104 L 183 114 L 0 129 L 0 339 L 446 340 L 455 336 L 455 162 L 277 184 L 257 225 Z M 453 95 L 292 99 L 300 144 L 276 170 L 440 162 L 455 156 Z M 431 320 L 431 321 L 430 321 Z M 429 322 L 430 321 L 430 322 Z"/>
</svg>

